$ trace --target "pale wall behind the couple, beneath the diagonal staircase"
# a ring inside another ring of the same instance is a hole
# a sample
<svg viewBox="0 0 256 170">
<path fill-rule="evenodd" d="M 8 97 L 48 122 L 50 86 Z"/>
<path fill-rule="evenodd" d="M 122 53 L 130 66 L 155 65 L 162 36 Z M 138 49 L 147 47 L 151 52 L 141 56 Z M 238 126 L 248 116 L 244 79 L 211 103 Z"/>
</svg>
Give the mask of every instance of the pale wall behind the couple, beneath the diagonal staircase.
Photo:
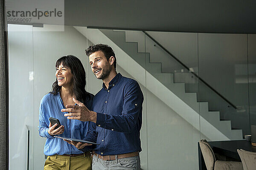
<svg viewBox="0 0 256 170">
<path fill-rule="evenodd" d="M 9 83 L 10 92 L 15 92 L 10 93 L 10 170 L 26 169 L 26 160 L 23 160 L 23 156 L 26 155 L 25 149 L 20 150 L 22 156 L 17 159 L 11 158 L 17 153 L 18 148 L 23 148 L 16 147 L 16 139 L 22 141 L 23 145 L 26 144 L 25 138 L 21 137 L 21 127 L 24 126 L 24 122 L 26 123 L 26 119 L 32 131 L 30 169 L 38 170 L 44 166 L 45 139 L 38 135 L 38 108 L 42 96 L 51 90 L 52 82 L 55 81 L 55 61 L 59 57 L 67 54 L 79 57 L 87 72 L 87 90 L 95 94 L 102 88 L 102 81 L 97 80 L 92 74 L 88 67 L 88 58 L 84 53 L 84 49 L 91 43 L 73 27 L 65 27 L 64 32 L 45 31 L 50 27 L 52 26 L 44 26 L 44 28 L 22 26 L 28 30 L 29 37 L 24 32 L 9 32 Z M 12 28 L 20 29 L 17 25 Z M 19 48 L 15 46 L 17 42 L 19 42 Z M 29 51 L 30 54 L 27 55 Z M 28 56 L 29 58 L 26 58 Z M 121 56 L 117 56 L 117 62 L 119 57 Z M 23 60 L 18 60 L 19 58 Z M 29 71 L 34 71 L 34 80 L 30 81 L 30 85 L 24 83 L 29 82 Z M 119 65 L 117 65 L 117 71 L 131 77 Z M 145 73 L 138 74 L 145 75 Z M 17 81 L 19 79 L 20 81 Z M 140 153 L 143 170 L 198 169 L 199 131 L 154 96 L 145 86 L 140 86 L 145 98 L 141 130 L 143 151 Z M 30 98 L 24 100 L 24 96 Z M 17 107 L 12 107 L 13 103 Z M 15 108 L 21 107 L 21 104 L 23 109 L 19 109 L 17 113 Z M 29 115 L 24 116 L 28 109 Z M 11 119 L 14 117 L 19 121 Z M 206 139 L 202 134 L 201 138 Z M 15 164 L 19 167 L 15 167 Z"/>
</svg>

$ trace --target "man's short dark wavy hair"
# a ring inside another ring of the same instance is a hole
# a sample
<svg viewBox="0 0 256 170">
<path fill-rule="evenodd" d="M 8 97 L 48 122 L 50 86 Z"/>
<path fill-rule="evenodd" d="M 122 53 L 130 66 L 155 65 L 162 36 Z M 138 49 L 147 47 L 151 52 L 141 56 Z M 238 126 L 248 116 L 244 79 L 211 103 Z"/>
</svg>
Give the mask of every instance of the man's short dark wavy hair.
<svg viewBox="0 0 256 170">
<path fill-rule="evenodd" d="M 111 48 L 111 46 L 106 44 L 96 44 L 96 45 L 90 45 L 86 50 L 85 53 L 89 57 L 90 54 L 93 54 L 96 51 L 102 51 L 105 57 L 109 60 L 111 56 L 114 57 L 114 67 L 116 69 L 116 54 Z"/>
</svg>

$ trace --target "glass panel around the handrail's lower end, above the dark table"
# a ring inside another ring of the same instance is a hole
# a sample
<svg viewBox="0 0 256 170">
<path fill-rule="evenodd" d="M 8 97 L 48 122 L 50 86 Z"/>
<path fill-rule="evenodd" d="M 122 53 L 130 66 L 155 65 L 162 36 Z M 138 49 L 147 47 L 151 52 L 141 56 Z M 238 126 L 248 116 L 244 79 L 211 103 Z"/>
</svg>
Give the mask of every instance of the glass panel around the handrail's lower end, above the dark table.
<svg viewBox="0 0 256 170">
<path fill-rule="evenodd" d="M 199 83 L 199 101 L 208 102 L 206 107 L 209 111 L 220 114 L 221 121 L 213 121 L 212 125 L 221 133 L 216 133 L 213 140 L 242 139 L 242 131 L 244 134 L 250 132 L 247 35 L 198 34 L 198 49 L 199 77 L 237 108 L 233 108 L 209 86 Z"/>
</svg>

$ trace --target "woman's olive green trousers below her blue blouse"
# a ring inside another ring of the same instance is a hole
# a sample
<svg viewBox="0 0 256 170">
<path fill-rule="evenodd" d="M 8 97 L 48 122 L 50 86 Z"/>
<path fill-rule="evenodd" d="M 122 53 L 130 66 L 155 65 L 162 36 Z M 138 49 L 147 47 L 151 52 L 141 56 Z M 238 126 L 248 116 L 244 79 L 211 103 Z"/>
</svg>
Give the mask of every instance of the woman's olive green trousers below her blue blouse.
<svg viewBox="0 0 256 170">
<path fill-rule="evenodd" d="M 92 157 L 81 156 L 47 156 L 44 163 L 44 170 L 92 170 Z"/>
</svg>

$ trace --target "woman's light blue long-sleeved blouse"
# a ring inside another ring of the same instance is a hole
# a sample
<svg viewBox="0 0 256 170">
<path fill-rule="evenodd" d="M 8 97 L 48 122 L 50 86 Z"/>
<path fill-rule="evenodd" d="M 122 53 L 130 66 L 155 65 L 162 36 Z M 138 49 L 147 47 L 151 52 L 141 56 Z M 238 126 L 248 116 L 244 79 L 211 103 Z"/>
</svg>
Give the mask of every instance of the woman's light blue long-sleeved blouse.
<svg viewBox="0 0 256 170">
<path fill-rule="evenodd" d="M 87 103 L 84 103 L 89 110 L 92 110 L 92 101 L 93 95 L 91 95 L 91 99 Z M 38 132 L 41 137 L 47 138 L 44 145 L 44 154 L 47 156 L 55 154 L 63 155 L 83 153 L 72 144 L 68 144 L 63 139 L 55 138 L 47 132 L 49 129 L 49 117 L 53 117 L 59 119 L 61 125 L 64 125 L 64 133 L 58 136 L 85 139 L 87 130 L 91 123 L 67 119 L 67 117 L 64 116 L 67 112 L 61 112 L 61 109 L 64 108 L 65 107 L 59 93 L 55 95 L 49 93 L 41 99 Z M 88 147 L 88 150 L 90 150 L 90 147 Z"/>
</svg>

